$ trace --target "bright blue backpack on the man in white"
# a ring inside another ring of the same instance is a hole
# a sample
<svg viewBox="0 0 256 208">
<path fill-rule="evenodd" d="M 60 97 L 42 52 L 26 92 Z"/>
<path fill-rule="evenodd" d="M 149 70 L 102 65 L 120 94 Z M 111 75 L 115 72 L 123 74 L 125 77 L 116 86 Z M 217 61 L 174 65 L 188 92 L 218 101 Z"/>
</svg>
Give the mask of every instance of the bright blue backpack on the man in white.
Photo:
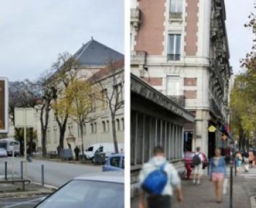
<svg viewBox="0 0 256 208">
<path fill-rule="evenodd" d="M 168 182 L 168 175 L 164 171 L 166 163 L 151 172 L 142 183 L 142 189 L 150 195 L 161 195 Z"/>
</svg>

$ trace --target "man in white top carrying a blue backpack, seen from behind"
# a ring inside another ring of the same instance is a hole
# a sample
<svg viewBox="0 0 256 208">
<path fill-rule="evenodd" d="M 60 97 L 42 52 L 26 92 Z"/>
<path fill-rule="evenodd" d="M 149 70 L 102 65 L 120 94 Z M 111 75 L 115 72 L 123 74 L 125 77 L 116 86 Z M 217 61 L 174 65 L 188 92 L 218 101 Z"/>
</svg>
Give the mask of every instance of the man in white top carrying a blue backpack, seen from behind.
<svg viewBox="0 0 256 208">
<path fill-rule="evenodd" d="M 154 156 L 140 171 L 140 208 L 170 208 L 174 189 L 178 202 L 182 202 L 181 179 L 164 157 L 163 147 L 155 147 L 153 153 Z"/>
</svg>

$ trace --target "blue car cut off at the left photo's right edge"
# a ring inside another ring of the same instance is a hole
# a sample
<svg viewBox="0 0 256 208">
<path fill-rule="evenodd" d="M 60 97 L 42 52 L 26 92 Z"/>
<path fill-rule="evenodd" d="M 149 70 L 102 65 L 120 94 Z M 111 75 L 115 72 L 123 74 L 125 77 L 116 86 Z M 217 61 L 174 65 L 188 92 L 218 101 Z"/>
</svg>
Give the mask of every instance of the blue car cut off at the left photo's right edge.
<svg viewBox="0 0 256 208">
<path fill-rule="evenodd" d="M 108 157 L 102 170 L 103 172 L 124 170 L 124 154 L 114 154 Z"/>
</svg>

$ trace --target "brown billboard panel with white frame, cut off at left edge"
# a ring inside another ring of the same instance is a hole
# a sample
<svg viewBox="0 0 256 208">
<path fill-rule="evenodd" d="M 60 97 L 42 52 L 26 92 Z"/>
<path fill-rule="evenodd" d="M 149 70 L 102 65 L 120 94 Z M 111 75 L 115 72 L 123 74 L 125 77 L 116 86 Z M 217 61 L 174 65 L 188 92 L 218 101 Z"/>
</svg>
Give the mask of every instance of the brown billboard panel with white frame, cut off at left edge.
<svg viewBox="0 0 256 208">
<path fill-rule="evenodd" d="M 0 133 L 8 132 L 8 83 L 0 78 Z"/>
</svg>

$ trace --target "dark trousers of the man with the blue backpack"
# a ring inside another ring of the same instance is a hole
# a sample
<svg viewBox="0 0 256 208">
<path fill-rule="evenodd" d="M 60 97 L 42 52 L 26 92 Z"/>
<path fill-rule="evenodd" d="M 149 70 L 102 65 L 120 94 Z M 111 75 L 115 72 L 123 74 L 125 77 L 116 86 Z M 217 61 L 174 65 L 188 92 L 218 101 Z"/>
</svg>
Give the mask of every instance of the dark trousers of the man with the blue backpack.
<svg viewBox="0 0 256 208">
<path fill-rule="evenodd" d="M 171 196 L 149 196 L 148 208 L 171 208 Z"/>
</svg>

